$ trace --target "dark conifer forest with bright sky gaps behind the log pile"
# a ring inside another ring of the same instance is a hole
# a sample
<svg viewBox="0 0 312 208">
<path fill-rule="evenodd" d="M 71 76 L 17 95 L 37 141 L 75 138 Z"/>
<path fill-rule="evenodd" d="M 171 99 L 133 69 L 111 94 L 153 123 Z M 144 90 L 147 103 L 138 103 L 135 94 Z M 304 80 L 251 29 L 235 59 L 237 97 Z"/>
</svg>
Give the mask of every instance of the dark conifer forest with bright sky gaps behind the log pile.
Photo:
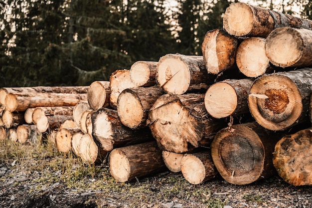
<svg viewBox="0 0 312 208">
<path fill-rule="evenodd" d="M 237 0 L 0 0 L 0 87 L 78 86 L 168 53 L 202 55 Z M 312 19 L 310 0 L 248 1 Z"/>
</svg>

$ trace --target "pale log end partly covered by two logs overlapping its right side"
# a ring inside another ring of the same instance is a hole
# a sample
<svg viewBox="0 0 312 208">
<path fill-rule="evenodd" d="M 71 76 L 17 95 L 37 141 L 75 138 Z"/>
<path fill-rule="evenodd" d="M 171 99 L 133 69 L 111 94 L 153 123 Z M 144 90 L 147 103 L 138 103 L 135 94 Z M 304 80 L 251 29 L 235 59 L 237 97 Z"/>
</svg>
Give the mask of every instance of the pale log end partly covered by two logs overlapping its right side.
<svg viewBox="0 0 312 208">
<path fill-rule="evenodd" d="M 130 78 L 130 70 L 116 70 L 110 76 L 110 105 L 112 108 L 117 109 L 117 99 L 119 94 L 127 88 L 138 87 Z"/>
</svg>

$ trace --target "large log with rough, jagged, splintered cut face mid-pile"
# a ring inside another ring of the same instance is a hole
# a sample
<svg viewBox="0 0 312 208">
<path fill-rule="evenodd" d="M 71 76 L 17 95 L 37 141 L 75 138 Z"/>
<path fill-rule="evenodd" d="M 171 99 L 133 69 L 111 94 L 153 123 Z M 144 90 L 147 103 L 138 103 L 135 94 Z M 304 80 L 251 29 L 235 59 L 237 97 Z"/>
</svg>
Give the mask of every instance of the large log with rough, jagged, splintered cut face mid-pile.
<svg viewBox="0 0 312 208">
<path fill-rule="evenodd" d="M 148 126 L 161 150 L 184 153 L 209 146 L 225 122 L 205 109 L 204 94 L 161 95 L 149 111 Z"/>
</svg>

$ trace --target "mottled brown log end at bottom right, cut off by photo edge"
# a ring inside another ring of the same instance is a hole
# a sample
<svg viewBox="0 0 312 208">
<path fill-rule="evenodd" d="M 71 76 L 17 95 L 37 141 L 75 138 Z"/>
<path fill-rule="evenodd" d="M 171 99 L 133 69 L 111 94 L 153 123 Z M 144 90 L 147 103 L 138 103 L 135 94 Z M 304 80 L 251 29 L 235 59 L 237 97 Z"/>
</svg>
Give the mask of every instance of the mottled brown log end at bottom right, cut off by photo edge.
<svg viewBox="0 0 312 208">
<path fill-rule="evenodd" d="M 273 164 L 280 177 L 293 186 L 312 185 L 312 130 L 283 137 L 276 145 Z"/>
</svg>

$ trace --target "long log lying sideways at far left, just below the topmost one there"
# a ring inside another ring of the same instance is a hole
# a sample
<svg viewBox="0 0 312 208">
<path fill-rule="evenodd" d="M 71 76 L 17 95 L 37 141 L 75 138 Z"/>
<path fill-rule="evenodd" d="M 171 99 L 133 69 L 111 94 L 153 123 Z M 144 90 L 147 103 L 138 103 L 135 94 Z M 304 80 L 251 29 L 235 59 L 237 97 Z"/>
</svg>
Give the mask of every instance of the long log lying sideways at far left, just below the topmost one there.
<svg viewBox="0 0 312 208">
<path fill-rule="evenodd" d="M 87 100 L 87 93 L 8 93 L 5 96 L 5 108 L 13 112 L 25 111 L 27 108 L 35 108 L 39 106 L 75 106 L 79 101 L 82 100 Z"/>
</svg>

